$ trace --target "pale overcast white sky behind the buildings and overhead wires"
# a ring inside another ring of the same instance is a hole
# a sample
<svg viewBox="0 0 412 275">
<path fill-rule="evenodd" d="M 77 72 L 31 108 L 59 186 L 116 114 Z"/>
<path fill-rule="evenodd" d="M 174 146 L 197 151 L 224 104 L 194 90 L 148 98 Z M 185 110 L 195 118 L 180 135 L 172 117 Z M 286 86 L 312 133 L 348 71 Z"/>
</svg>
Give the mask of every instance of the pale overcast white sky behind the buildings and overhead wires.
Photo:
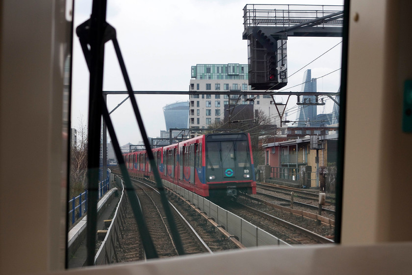
<svg viewBox="0 0 412 275">
<path fill-rule="evenodd" d="M 242 40 L 243 7 L 246 4 L 327 4 L 342 5 L 343 0 L 108 0 L 106 21 L 116 29 L 133 90 L 187 91 L 190 68 L 196 64 L 247 64 L 247 41 Z M 75 28 L 90 18 L 91 0 L 75 0 Z M 312 70 L 318 78 L 340 68 L 341 44 L 292 77 L 313 59 L 338 44 L 341 38 L 297 38 L 287 40 L 288 85 L 281 90 L 300 91 L 303 73 Z M 103 90 L 126 90 L 111 42 L 105 45 Z M 318 91 L 335 92 L 340 70 L 317 80 Z M 288 88 L 292 87 L 292 88 Z M 89 72 L 76 34 L 73 47 L 72 127 L 82 117 L 87 123 Z M 113 110 L 127 95 L 108 95 L 108 110 Z M 136 96 L 146 132 L 156 138 L 166 130 L 162 108 L 166 104 L 189 100 L 188 95 Z M 276 101 L 286 98 L 277 97 Z M 329 100 L 331 102 L 331 100 Z M 294 120 L 296 97 L 289 100 L 289 120 Z M 324 108 L 318 107 L 318 113 Z M 325 112 L 332 110 L 327 104 Z M 141 141 L 130 101 L 111 114 L 120 145 Z M 110 138 L 108 138 L 110 140 Z"/>
</svg>

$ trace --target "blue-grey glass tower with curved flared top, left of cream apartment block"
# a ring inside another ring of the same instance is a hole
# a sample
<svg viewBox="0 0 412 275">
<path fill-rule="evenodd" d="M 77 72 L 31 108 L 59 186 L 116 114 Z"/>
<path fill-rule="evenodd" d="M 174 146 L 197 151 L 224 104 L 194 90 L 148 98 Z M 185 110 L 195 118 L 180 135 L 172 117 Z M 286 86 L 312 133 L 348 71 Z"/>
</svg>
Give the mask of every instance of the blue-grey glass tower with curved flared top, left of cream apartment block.
<svg viewBox="0 0 412 275">
<path fill-rule="evenodd" d="M 189 128 L 189 102 L 176 102 L 163 107 L 166 130 L 170 128 Z"/>
</svg>

